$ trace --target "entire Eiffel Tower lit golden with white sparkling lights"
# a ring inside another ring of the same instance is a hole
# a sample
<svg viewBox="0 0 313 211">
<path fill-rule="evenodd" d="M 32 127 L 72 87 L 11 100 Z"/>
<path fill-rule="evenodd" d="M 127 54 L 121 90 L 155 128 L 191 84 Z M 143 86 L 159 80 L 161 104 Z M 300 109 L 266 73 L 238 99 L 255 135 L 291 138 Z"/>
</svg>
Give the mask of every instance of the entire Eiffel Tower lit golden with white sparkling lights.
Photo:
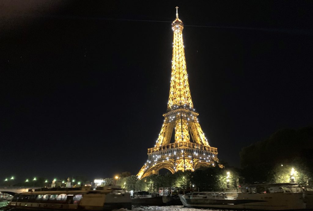
<svg viewBox="0 0 313 211">
<path fill-rule="evenodd" d="M 137 174 L 138 178 L 158 174 L 162 168 L 172 173 L 179 170 L 194 171 L 218 162 L 217 148 L 210 147 L 198 122 L 199 114 L 193 108 L 182 39 L 183 28 L 176 7 L 176 19 L 172 22 L 173 56 L 167 113 L 163 114 L 161 132 L 154 147 L 148 149 L 148 160 Z M 175 142 L 170 143 L 173 130 Z"/>
</svg>

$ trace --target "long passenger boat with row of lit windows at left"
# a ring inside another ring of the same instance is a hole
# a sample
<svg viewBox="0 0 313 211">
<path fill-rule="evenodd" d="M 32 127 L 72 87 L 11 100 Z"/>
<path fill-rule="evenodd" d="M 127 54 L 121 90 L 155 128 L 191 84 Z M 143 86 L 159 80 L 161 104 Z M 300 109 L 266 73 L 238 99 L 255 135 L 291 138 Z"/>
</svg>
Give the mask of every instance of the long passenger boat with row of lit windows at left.
<svg viewBox="0 0 313 211">
<path fill-rule="evenodd" d="M 113 210 L 131 209 L 130 193 L 120 186 L 41 188 L 15 194 L 10 210 Z"/>
</svg>

